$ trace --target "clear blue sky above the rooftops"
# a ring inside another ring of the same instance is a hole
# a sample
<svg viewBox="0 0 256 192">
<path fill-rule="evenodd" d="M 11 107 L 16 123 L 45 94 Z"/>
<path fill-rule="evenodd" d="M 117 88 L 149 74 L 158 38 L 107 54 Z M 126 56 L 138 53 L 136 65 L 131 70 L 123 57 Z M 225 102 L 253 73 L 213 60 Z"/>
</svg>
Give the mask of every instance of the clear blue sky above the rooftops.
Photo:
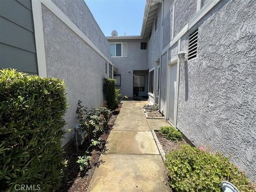
<svg viewBox="0 0 256 192">
<path fill-rule="evenodd" d="M 146 0 L 85 0 L 105 36 L 140 35 Z"/>
</svg>

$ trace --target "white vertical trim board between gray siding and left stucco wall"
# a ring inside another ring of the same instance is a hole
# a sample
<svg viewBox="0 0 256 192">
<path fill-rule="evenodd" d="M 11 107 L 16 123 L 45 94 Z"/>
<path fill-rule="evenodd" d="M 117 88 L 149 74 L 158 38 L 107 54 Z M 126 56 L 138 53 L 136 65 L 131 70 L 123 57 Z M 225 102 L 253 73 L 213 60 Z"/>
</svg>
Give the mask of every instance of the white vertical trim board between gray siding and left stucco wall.
<svg viewBox="0 0 256 192">
<path fill-rule="evenodd" d="M 34 19 L 38 75 L 41 77 L 47 77 L 45 49 L 44 49 L 42 5 L 40 0 L 33 0 L 31 4 L 32 4 L 33 19 Z"/>
</svg>

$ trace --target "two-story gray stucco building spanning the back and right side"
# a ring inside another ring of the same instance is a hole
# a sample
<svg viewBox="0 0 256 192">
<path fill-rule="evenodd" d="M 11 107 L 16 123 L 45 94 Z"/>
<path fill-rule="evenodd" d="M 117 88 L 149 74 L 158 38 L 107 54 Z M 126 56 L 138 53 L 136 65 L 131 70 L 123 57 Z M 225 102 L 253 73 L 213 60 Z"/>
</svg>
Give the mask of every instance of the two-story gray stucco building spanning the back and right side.
<svg viewBox="0 0 256 192">
<path fill-rule="evenodd" d="M 256 2 L 249 0 L 147 0 L 140 36 L 107 37 L 122 94 L 148 96 L 191 142 L 232 154 L 231 161 L 252 180 L 255 10 Z M 125 44 L 125 57 L 118 56 L 118 43 Z M 145 81 L 134 80 L 140 70 Z M 134 88 L 137 81 L 145 89 Z"/>
</svg>

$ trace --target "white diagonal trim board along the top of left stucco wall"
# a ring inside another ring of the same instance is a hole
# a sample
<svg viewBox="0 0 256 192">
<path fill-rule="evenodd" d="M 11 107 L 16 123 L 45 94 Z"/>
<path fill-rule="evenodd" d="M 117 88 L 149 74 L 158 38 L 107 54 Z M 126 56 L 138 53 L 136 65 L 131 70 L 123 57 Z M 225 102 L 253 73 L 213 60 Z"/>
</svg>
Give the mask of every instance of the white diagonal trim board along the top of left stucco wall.
<svg viewBox="0 0 256 192">
<path fill-rule="evenodd" d="M 47 7 L 53 14 L 55 14 L 63 23 L 65 23 L 71 30 L 74 31 L 75 34 L 77 34 L 79 37 L 81 37 L 85 43 L 87 43 L 94 51 L 99 53 L 99 55 L 104 58 L 106 61 L 108 61 L 110 64 L 112 62 L 106 57 L 105 54 L 103 54 L 92 42 L 91 40 L 59 9 L 57 5 L 55 5 L 51 0 L 32 0 L 33 1 L 39 1 L 44 6 Z M 42 10 L 41 10 L 42 12 Z M 42 17 L 42 14 L 41 14 Z"/>
</svg>

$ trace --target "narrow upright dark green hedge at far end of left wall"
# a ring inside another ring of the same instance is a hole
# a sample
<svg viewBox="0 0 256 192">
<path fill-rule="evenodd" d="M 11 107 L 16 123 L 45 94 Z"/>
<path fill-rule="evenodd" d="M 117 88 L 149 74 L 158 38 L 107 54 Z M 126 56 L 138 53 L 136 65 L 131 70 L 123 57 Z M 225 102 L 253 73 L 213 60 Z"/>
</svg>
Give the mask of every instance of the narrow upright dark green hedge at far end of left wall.
<svg viewBox="0 0 256 192">
<path fill-rule="evenodd" d="M 106 96 L 107 106 L 114 110 L 118 106 L 118 92 L 116 93 L 116 80 L 111 78 L 104 79 L 103 92 Z"/>
</svg>

